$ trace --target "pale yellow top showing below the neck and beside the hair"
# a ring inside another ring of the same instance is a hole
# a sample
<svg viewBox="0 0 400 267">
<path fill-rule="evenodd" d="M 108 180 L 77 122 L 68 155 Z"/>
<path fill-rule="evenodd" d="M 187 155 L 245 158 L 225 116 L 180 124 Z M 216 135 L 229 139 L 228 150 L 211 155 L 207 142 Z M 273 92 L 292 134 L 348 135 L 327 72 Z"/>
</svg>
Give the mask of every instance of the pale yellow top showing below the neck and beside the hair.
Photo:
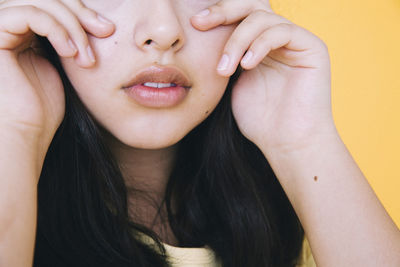
<svg viewBox="0 0 400 267">
<path fill-rule="evenodd" d="M 154 241 L 145 235 L 140 235 L 147 244 L 154 244 Z M 172 267 L 221 267 L 217 261 L 213 250 L 204 246 L 201 248 L 174 247 L 162 243 L 165 247 L 169 263 Z M 301 263 L 297 267 L 316 267 L 311 248 L 307 239 L 304 239 Z"/>
</svg>

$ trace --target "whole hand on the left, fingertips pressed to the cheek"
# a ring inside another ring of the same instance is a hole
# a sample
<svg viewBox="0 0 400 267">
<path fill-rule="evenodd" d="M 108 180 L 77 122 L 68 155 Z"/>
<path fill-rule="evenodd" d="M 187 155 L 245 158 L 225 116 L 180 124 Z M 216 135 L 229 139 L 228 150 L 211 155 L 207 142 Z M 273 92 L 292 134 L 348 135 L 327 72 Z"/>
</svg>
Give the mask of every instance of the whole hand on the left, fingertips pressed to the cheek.
<svg viewBox="0 0 400 267">
<path fill-rule="evenodd" d="M 65 114 L 65 96 L 36 35 L 47 37 L 59 56 L 89 68 L 95 59 L 85 31 L 107 37 L 114 25 L 80 0 L 0 0 L 1 132 L 34 137 L 47 151 Z"/>
</svg>

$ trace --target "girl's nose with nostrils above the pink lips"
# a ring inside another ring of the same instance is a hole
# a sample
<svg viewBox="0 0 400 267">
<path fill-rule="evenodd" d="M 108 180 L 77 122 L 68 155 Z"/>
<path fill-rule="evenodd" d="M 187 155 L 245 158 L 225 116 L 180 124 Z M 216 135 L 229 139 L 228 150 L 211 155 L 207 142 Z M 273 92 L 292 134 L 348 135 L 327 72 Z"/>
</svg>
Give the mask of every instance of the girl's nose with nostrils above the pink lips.
<svg viewBox="0 0 400 267">
<path fill-rule="evenodd" d="M 148 10 L 151 12 L 145 12 L 141 23 L 137 24 L 136 45 L 142 50 L 179 50 L 185 38 L 171 1 L 157 0 Z"/>
</svg>

